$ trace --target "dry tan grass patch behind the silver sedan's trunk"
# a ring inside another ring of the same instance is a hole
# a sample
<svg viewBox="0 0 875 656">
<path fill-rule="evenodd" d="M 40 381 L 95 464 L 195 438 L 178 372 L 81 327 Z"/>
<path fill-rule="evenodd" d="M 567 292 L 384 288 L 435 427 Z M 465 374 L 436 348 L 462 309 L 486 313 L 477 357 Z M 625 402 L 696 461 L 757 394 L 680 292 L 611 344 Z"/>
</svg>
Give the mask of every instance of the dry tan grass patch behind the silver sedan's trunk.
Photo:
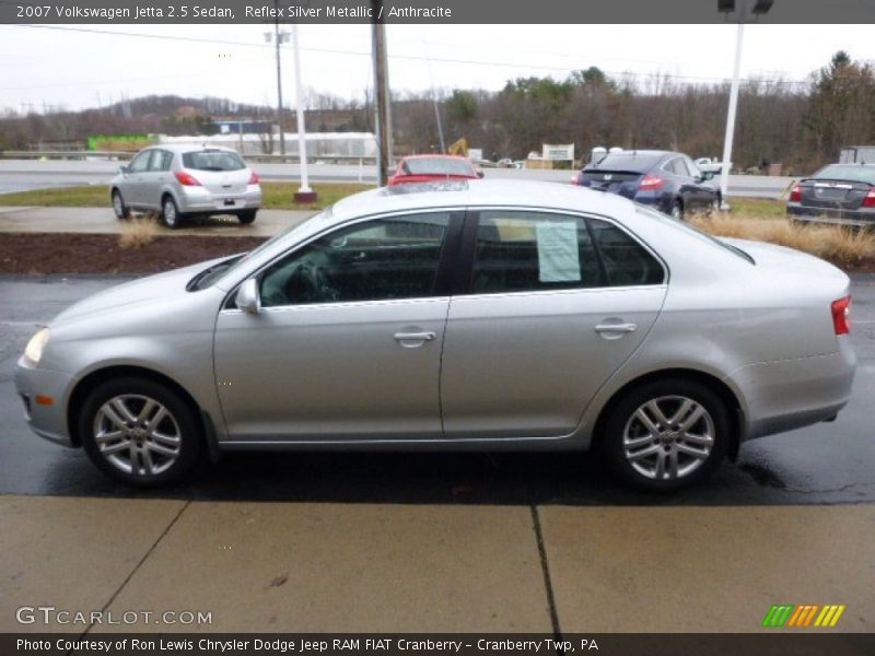
<svg viewBox="0 0 875 656">
<path fill-rule="evenodd" d="M 875 259 L 875 233 L 840 225 L 805 225 L 786 216 L 714 214 L 692 216 L 690 223 L 719 237 L 769 242 L 824 258 L 838 266 L 859 266 Z"/>
</svg>

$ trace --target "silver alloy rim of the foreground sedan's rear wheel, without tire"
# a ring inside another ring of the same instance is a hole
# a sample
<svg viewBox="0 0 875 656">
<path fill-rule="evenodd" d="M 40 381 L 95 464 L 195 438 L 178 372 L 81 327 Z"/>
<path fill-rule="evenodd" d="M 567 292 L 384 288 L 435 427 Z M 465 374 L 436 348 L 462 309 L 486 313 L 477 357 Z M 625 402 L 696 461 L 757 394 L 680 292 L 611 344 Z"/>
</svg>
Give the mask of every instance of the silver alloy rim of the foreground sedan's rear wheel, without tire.
<svg viewBox="0 0 875 656">
<path fill-rule="evenodd" d="M 681 479 L 705 464 L 714 435 L 714 420 L 704 406 L 685 396 L 657 397 L 627 421 L 623 455 L 648 479 Z"/>
</svg>

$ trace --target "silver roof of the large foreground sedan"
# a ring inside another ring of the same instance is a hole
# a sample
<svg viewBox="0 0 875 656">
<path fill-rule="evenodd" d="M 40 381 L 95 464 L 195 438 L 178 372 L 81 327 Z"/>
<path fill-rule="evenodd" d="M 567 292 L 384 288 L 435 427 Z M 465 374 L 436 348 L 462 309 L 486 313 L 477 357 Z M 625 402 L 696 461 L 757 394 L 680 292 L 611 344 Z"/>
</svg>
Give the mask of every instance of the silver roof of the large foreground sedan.
<svg viewBox="0 0 875 656">
<path fill-rule="evenodd" d="M 324 226 L 358 216 L 430 208 L 520 207 L 616 215 L 632 209 L 632 201 L 615 194 L 576 185 L 537 180 L 455 180 L 398 185 L 362 191 L 337 202 Z"/>
</svg>

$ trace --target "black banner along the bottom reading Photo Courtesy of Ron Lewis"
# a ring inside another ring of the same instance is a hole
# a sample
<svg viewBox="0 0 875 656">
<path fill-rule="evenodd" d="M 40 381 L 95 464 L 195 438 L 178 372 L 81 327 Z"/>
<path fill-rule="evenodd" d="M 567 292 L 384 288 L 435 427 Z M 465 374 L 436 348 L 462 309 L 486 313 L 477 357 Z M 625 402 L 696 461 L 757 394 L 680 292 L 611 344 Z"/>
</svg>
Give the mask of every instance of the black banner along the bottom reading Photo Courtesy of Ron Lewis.
<svg viewBox="0 0 875 656">
<path fill-rule="evenodd" d="M 567 634 L 278 634 L 118 633 L 1 634 L 0 654 L 61 656 L 871 656 L 875 634 L 777 629 L 773 633 L 594 633 Z M 827 630 L 828 631 L 828 630 Z"/>
</svg>

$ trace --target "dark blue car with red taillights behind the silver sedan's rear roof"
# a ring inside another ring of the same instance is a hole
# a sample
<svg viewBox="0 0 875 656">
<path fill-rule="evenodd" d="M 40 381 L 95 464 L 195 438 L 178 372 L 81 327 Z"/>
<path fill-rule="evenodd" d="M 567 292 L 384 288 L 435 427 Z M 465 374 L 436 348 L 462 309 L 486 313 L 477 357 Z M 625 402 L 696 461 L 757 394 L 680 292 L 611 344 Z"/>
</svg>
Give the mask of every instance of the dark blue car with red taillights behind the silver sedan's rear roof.
<svg viewBox="0 0 875 656">
<path fill-rule="evenodd" d="M 639 150 L 608 153 L 587 164 L 575 181 L 682 219 L 686 212 L 720 208 L 720 189 L 712 178 L 682 153 Z"/>
</svg>

